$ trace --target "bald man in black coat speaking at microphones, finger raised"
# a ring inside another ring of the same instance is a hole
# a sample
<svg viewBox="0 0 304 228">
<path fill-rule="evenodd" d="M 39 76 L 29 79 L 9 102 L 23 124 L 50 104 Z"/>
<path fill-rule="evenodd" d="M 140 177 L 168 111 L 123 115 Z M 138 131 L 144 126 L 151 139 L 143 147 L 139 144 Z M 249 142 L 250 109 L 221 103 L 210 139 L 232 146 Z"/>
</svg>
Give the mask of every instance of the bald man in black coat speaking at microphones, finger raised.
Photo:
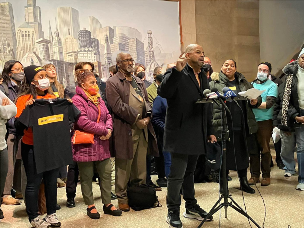
<svg viewBox="0 0 304 228">
<path fill-rule="evenodd" d="M 201 69 L 203 64 L 203 48 L 189 45 L 185 57 L 179 58 L 176 67 L 165 73 L 157 91 L 168 102 L 164 151 L 170 152 L 172 158 L 167 194 L 169 227 L 182 227 L 179 217 L 181 187 L 186 201 L 184 217 L 203 220 L 207 215 L 195 199 L 193 179 L 199 155 L 206 154 L 207 139 L 216 142 L 209 128 L 212 126 L 211 104 L 195 103 L 204 98 L 205 89 L 210 89 L 207 76 Z"/>
</svg>

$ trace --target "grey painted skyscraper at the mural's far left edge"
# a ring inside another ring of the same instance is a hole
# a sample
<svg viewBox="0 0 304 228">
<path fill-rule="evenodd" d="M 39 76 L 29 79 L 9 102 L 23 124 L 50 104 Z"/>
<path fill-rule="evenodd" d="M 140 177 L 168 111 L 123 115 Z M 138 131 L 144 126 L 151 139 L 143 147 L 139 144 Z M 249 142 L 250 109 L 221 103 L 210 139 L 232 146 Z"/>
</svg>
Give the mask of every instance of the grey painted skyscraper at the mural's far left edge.
<svg viewBox="0 0 304 228">
<path fill-rule="evenodd" d="M 16 57 L 17 39 L 12 4 L 9 2 L 2 2 L 0 9 L 1 37 L 5 37 L 7 39 L 10 46 L 13 48 L 13 52 Z"/>
</svg>

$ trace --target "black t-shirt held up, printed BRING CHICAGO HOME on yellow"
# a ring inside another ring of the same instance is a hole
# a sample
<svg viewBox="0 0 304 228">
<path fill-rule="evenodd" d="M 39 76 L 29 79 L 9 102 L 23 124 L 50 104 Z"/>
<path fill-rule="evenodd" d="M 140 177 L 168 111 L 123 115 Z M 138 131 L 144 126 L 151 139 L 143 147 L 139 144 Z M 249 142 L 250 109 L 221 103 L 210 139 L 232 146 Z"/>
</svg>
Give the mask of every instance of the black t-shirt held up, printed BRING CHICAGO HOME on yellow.
<svg viewBox="0 0 304 228">
<path fill-rule="evenodd" d="M 72 160 L 69 121 L 81 113 L 66 99 L 37 99 L 23 110 L 18 121 L 33 130 L 37 173 L 69 165 Z"/>
</svg>

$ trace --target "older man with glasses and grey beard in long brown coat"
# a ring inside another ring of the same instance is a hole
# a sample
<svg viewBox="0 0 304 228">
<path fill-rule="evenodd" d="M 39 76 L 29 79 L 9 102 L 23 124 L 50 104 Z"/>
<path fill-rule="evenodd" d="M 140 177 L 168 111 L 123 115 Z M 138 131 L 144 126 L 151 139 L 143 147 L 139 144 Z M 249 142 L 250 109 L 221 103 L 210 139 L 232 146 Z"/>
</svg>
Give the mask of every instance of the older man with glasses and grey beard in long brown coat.
<svg viewBox="0 0 304 228">
<path fill-rule="evenodd" d="M 151 124 L 152 106 L 143 81 L 132 75 L 134 60 L 130 54 L 116 57 L 118 72 L 108 79 L 106 96 L 113 114 L 112 154 L 115 155 L 115 191 L 119 209 L 130 211 L 127 187 L 145 184 L 146 157 L 159 156 Z M 111 148 L 110 148 L 111 149 Z"/>
</svg>

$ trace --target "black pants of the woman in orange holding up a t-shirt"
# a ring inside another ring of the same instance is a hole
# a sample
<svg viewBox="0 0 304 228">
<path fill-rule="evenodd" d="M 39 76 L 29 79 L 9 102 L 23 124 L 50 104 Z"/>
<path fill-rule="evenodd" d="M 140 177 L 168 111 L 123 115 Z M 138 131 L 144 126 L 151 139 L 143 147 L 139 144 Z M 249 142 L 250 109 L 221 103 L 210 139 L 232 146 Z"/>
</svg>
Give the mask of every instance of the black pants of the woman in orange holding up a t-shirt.
<svg viewBox="0 0 304 228">
<path fill-rule="evenodd" d="M 25 190 L 26 212 L 31 222 L 38 216 L 38 193 L 43 178 L 47 214 L 56 213 L 57 204 L 57 177 L 59 168 L 37 173 L 33 146 L 21 143 L 21 156 L 27 177 Z"/>
</svg>

